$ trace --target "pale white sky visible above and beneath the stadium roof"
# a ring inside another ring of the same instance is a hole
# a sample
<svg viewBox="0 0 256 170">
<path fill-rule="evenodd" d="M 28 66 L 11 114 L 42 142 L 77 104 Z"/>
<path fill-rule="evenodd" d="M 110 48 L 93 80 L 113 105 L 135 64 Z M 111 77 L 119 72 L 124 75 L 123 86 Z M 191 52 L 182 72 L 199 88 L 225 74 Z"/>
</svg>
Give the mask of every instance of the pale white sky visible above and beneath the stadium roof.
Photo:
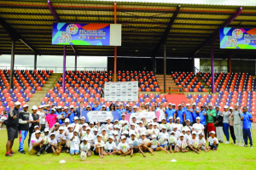
<svg viewBox="0 0 256 170">
<path fill-rule="evenodd" d="M 103 0 L 103 1 L 113 1 L 113 0 Z M 256 5 L 256 0 L 118 0 L 117 2 L 150 2 L 150 3 L 197 3 L 197 4 L 222 4 L 222 5 L 246 5 L 253 6 Z M 78 58 L 78 67 L 107 67 L 107 57 L 89 57 L 80 56 Z M 38 69 L 48 69 L 56 70 L 60 72 L 62 70 L 62 56 L 38 56 Z M 0 56 L 0 69 L 9 68 L 10 66 L 10 55 Z M 26 69 L 26 66 L 33 66 L 33 56 L 32 55 L 15 55 L 15 66 L 19 66 L 19 69 Z M 42 66 L 42 67 L 40 67 Z M 199 66 L 199 59 L 195 60 L 195 66 Z M 73 70 L 74 67 L 74 57 L 67 56 L 67 68 Z M 27 67 L 27 69 L 30 69 Z M 92 68 L 91 68 L 92 69 Z M 87 69 L 87 70 L 91 70 Z M 79 68 L 79 70 L 84 70 L 84 68 Z M 96 70 L 102 70 L 102 68 L 97 68 Z"/>
</svg>

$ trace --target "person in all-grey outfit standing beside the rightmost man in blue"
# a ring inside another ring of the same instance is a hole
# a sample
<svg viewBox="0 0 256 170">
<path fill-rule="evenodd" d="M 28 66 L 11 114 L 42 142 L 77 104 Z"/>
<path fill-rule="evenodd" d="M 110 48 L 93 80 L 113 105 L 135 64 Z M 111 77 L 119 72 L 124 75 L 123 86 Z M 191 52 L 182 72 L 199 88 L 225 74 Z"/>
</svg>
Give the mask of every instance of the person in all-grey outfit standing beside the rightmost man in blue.
<svg viewBox="0 0 256 170">
<path fill-rule="evenodd" d="M 241 110 L 239 109 L 239 105 L 236 104 L 235 110 L 232 113 L 232 119 L 234 120 L 234 131 L 235 131 L 235 136 L 236 136 L 236 145 L 243 146 L 244 141 L 243 141 L 243 136 L 242 136 L 242 122 L 241 122 Z M 240 144 L 241 142 L 241 144 Z"/>
</svg>

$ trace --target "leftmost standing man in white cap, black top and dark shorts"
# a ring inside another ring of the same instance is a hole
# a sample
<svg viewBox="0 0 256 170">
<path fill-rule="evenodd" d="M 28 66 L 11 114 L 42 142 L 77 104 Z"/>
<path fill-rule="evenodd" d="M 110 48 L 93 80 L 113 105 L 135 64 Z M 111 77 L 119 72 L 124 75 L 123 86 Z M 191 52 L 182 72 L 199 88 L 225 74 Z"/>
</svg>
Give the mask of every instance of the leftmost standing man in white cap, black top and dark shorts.
<svg viewBox="0 0 256 170">
<path fill-rule="evenodd" d="M 9 112 L 7 119 L 7 134 L 8 141 L 6 143 L 6 153 L 5 156 L 12 156 L 15 152 L 12 150 L 13 144 L 16 138 L 18 138 L 18 127 L 19 127 L 19 117 L 20 117 L 20 102 L 15 102 L 15 108 L 13 111 Z"/>
</svg>

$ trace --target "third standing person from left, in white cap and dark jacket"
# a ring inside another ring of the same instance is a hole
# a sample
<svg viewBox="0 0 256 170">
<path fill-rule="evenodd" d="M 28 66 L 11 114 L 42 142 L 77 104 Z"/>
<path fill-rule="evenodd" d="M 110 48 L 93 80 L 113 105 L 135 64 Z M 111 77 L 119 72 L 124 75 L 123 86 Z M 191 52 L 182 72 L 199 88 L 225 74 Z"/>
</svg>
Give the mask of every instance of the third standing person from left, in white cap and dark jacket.
<svg viewBox="0 0 256 170">
<path fill-rule="evenodd" d="M 32 106 L 32 114 L 29 117 L 29 120 L 31 121 L 31 124 L 29 126 L 29 139 L 28 139 L 28 146 L 30 144 L 30 139 L 31 139 L 31 135 L 32 133 L 34 133 L 34 127 L 38 125 L 39 130 L 40 130 L 40 123 L 39 123 L 39 115 L 37 114 L 38 112 L 38 106 L 37 105 L 33 105 Z"/>
</svg>

